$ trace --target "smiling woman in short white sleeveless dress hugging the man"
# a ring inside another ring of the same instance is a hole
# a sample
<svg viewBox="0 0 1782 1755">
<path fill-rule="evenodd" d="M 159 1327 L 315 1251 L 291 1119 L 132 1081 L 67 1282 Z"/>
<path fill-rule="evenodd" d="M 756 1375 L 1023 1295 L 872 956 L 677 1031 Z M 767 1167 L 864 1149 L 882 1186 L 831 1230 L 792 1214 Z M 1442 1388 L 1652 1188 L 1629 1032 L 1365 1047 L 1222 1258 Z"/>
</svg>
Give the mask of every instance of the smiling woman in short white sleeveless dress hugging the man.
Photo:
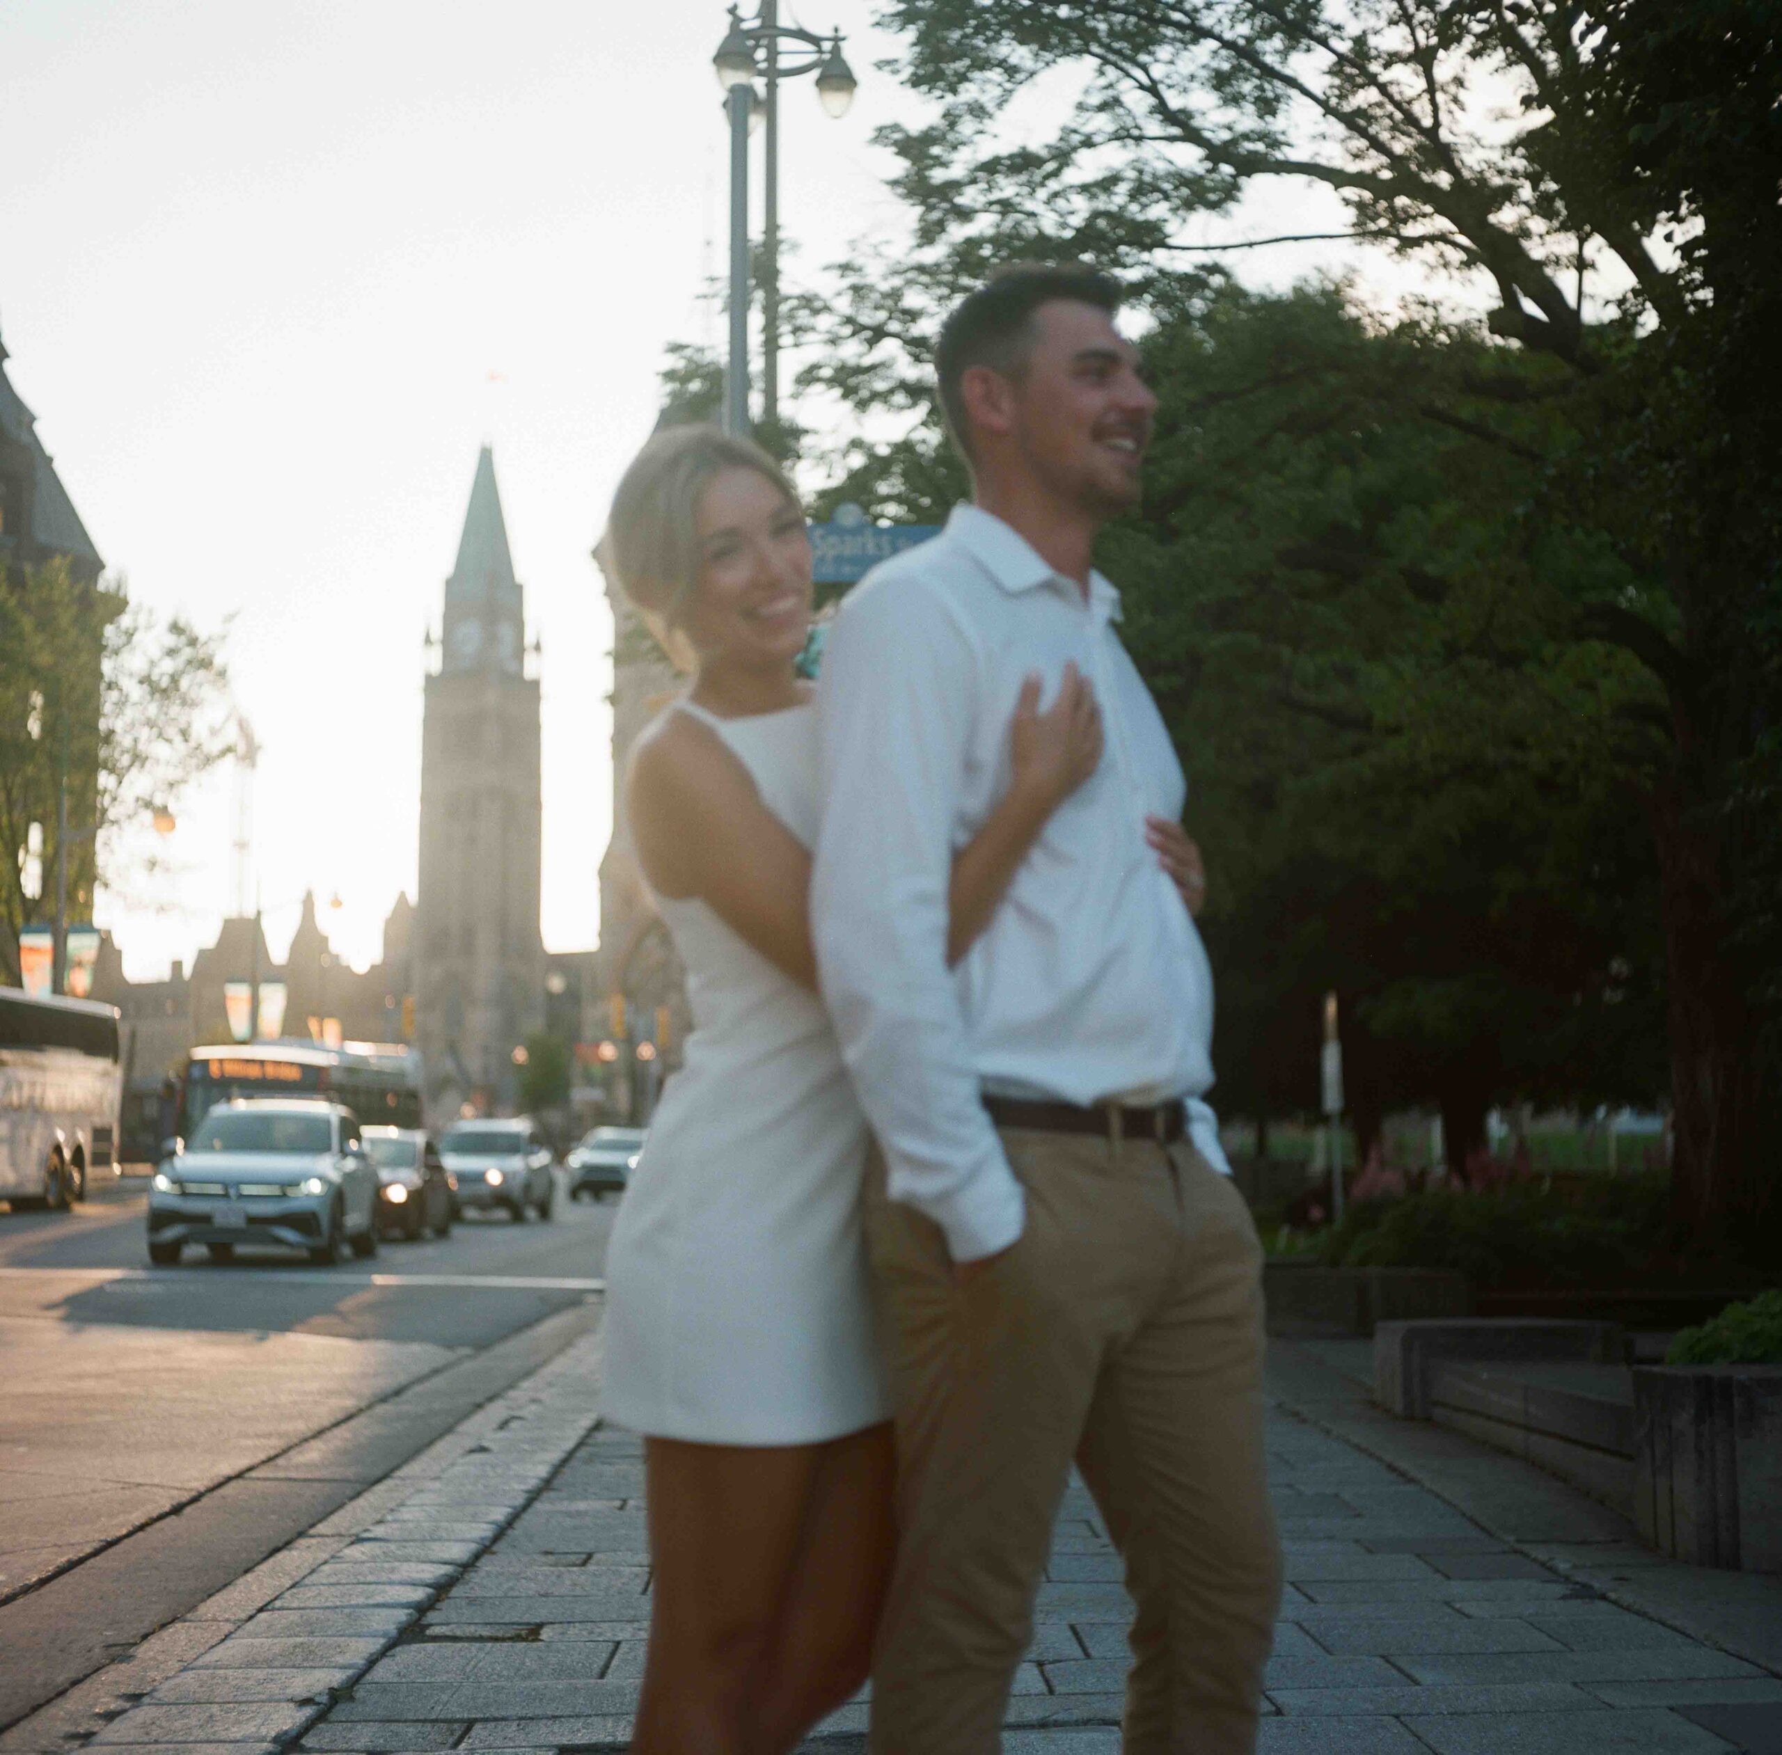
<svg viewBox="0 0 1782 1755">
<path fill-rule="evenodd" d="M 805 912 L 816 727 L 795 663 L 811 549 L 773 461 L 707 428 L 643 447 L 608 538 L 627 595 L 693 670 L 627 780 L 693 1008 L 608 1253 L 604 1408 L 645 1434 L 654 1566 L 633 1748 L 773 1755 L 866 1678 L 893 1550 L 866 1124 Z M 952 959 L 1099 755 L 1075 670 L 1044 713 L 1037 681 L 1023 688 L 1007 796 L 953 866 Z"/>
</svg>

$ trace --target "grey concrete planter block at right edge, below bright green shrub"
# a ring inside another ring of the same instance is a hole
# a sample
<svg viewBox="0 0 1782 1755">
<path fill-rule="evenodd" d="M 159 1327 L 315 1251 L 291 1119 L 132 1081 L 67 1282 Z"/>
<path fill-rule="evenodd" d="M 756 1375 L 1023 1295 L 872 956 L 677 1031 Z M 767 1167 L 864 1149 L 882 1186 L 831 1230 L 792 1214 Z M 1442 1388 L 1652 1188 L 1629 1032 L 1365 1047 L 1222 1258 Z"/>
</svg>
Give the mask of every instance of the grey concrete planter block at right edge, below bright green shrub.
<svg viewBox="0 0 1782 1755">
<path fill-rule="evenodd" d="M 1782 1367 L 1634 1372 L 1634 1520 L 1693 1566 L 1782 1571 Z"/>
</svg>

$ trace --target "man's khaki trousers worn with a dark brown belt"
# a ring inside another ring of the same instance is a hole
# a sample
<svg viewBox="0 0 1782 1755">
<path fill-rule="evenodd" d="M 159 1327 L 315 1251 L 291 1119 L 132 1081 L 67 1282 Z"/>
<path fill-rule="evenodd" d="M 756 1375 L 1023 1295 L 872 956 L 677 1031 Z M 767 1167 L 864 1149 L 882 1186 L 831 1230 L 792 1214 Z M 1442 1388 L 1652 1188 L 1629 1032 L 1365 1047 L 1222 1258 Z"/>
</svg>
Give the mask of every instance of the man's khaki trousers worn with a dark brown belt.
<svg viewBox="0 0 1782 1755">
<path fill-rule="evenodd" d="M 1126 1755 L 1249 1755 L 1281 1595 L 1249 1212 L 1187 1144 L 1001 1139 L 1026 1229 L 966 1288 L 868 1178 L 900 1525 L 873 1755 L 1001 1748 L 1073 1459 L 1137 1602 Z"/>
</svg>

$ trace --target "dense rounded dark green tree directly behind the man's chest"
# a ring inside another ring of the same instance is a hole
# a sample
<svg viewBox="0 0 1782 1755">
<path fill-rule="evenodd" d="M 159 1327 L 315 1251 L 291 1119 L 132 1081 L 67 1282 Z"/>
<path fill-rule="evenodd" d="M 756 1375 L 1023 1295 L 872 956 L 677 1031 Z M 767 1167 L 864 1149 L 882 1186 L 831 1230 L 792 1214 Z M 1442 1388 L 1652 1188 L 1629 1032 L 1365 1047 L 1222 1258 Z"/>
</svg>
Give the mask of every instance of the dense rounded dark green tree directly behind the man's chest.
<svg viewBox="0 0 1782 1755">
<path fill-rule="evenodd" d="M 1219 873 L 1221 1101 L 1315 1105 L 1328 989 L 1363 1146 L 1404 1103 L 1459 1165 L 1493 1101 L 1648 1099 L 1655 882 L 1616 763 L 1657 691 L 1566 638 L 1616 563 L 1451 419 L 1502 363 L 1331 287 L 1158 315 L 1146 506 L 1108 558 Z"/>
</svg>

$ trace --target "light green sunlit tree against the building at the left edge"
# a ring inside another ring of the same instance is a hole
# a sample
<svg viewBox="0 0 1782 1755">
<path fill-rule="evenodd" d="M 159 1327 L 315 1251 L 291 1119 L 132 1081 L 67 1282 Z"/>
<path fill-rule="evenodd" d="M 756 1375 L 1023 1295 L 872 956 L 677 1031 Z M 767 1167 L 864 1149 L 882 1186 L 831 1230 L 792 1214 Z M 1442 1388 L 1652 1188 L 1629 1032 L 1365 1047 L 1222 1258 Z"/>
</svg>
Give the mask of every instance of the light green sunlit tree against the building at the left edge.
<svg viewBox="0 0 1782 1755">
<path fill-rule="evenodd" d="M 153 871 L 143 829 L 230 750 L 219 641 L 159 620 L 66 563 L 0 572 L 0 975 L 48 923 L 57 793 L 68 793 L 68 918 Z M 36 853 L 30 848 L 36 846 Z"/>
</svg>

